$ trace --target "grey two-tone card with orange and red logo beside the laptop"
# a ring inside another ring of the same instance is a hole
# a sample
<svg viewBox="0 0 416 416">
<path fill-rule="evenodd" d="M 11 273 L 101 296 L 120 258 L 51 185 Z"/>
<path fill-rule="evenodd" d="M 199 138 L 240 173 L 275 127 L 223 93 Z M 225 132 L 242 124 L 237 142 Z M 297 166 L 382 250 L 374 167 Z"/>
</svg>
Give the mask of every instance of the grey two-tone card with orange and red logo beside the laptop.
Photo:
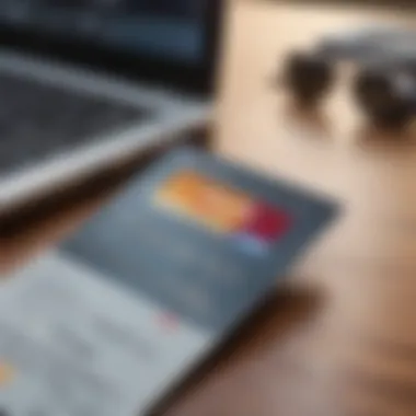
<svg viewBox="0 0 416 416">
<path fill-rule="evenodd" d="M 336 211 L 201 150 L 166 154 L 0 287 L 0 412 L 147 414 Z"/>
</svg>

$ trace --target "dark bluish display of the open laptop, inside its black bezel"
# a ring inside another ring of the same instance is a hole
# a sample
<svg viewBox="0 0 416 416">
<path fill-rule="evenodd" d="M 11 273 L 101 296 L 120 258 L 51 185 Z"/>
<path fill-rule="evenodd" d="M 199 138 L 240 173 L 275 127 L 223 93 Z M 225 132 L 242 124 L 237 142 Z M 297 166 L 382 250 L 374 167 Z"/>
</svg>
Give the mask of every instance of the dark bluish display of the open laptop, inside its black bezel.
<svg viewBox="0 0 416 416">
<path fill-rule="evenodd" d="M 158 60 L 198 65 L 208 0 L 0 0 L 0 22 Z"/>
</svg>

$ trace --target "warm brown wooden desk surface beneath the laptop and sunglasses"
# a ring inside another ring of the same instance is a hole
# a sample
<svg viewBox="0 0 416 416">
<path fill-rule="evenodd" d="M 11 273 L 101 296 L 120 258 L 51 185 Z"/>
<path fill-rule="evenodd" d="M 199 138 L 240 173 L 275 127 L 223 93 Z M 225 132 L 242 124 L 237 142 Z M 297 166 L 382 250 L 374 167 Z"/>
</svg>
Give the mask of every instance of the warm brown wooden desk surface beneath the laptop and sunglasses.
<svg viewBox="0 0 416 416">
<path fill-rule="evenodd" d="M 271 305 L 167 414 L 416 414 L 416 138 L 362 128 L 345 89 L 326 116 L 312 117 L 267 85 L 288 48 L 375 19 L 414 20 L 261 1 L 231 8 L 219 150 L 338 197 L 345 215 L 292 270 L 293 285 L 317 293 L 313 313 L 292 325 L 292 301 Z M 53 219 L 42 232 L 8 242 L 3 256 L 16 256 L 67 221 Z"/>
</svg>

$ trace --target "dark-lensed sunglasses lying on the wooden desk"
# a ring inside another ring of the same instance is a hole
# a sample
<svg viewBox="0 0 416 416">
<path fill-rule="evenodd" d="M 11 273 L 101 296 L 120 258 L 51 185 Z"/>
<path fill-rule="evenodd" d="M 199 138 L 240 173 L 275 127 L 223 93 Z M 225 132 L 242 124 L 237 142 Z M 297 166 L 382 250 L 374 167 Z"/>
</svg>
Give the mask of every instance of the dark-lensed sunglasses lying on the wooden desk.
<svg viewBox="0 0 416 416">
<path fill-rule="evenodd" d="M 404 128 L 416 112 L 416 32 L 379 27 L 323 38 L 312 51 L 288 56 L 285 88 L 302 105 L 320 104 L 336 80 L 337 66 L 357 65 L 353 85 L 360 109 L 371 123 Z"/>
</svg>

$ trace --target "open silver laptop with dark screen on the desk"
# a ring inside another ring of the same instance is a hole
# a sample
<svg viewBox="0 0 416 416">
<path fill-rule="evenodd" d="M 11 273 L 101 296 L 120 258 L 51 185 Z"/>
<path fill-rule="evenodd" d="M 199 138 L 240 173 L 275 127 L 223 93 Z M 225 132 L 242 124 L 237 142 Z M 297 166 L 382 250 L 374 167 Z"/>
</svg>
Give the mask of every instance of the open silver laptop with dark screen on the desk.
<svg viewBox="0 0 416 416">
<path fill-rule="evenodd" d="M 1 0 L 0 213 L 210 118 L 221 0 Z"/>
</svg>

